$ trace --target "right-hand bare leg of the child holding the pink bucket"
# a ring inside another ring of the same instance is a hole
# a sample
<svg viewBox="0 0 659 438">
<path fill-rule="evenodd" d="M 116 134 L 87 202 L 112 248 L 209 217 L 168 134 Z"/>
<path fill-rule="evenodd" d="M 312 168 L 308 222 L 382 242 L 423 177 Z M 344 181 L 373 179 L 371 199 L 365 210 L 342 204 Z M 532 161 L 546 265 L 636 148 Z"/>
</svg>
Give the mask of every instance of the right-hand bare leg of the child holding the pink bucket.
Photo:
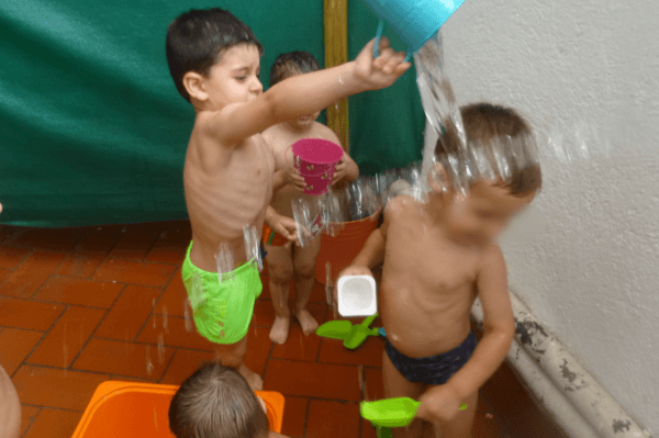
<svg viewBox="0 0 659 438">
<path fill-rule="evenodd" d="M 293 271 L 295 276 L 295 293 L 298 295 L 293 313 L 300 322 L 300 327 L 302 327 L 304 335 L 310 335 L 319 328 L 319 323 L 311 316 L 306 306 L 309 305 L 315 282 L 314 273 L 320 251 L 320 234 L 312 242 L 305 244 L 304 247 L 295 246 L 293 248 Z"/>
</svg>

